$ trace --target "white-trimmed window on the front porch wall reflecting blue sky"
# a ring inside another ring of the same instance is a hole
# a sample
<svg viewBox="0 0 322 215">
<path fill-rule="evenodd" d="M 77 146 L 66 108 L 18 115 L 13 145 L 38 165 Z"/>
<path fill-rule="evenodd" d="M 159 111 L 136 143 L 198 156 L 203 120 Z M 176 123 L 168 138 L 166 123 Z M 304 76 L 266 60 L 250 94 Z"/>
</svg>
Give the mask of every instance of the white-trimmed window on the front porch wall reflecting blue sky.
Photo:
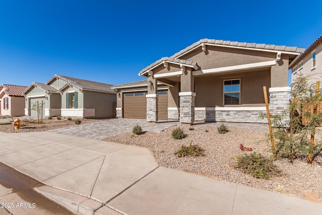
<svg viewBox="0 0 322 215">
<path fill-rule="evenodd" d="M 223 81 L 224 105 L 240 104 L 240 79 Z"/>
</svg>

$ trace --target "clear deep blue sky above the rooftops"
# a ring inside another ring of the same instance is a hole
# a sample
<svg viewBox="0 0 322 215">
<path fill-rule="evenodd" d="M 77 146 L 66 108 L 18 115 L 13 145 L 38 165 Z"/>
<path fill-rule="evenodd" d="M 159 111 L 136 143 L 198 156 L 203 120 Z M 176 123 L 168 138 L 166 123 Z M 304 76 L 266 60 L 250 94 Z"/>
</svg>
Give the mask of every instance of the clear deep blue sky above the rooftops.
<svg viewBox="0 0 322 215">
<path fill-rule="evenodd" d="M 109 84 L 203 39 L 307 48 L 322 1 L 0 0 L 0 84 L 59 74 Z"/>
</svg>

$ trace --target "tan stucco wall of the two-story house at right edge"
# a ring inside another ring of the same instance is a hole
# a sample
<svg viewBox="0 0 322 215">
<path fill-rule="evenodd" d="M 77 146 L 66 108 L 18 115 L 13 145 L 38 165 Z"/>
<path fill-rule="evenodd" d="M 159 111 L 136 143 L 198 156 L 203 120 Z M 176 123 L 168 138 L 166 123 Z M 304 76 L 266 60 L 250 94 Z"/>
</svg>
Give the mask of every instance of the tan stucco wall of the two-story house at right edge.
<svg viewBox="0 0 322 215">
<path fill-rule="evenodd" d="M 292 69 L 296 68 L 300 62 L 303 62 L 303 67 L 298 69 L 296 72 L 292 71 L 292 83 L 298 77 L 299 74 L 302 74 L 305 77 L 308 77 L 309 85 L 315 84 L 316 81 L 322 82 L 322 42 L 317 44 L 315 49 L 315 68 L 313 68 L 313 59 L 312 54 L 309 52 L 303 60 L 297 62 L 292 66 Z M 313 50 L 314 50 L 313 49 Z"/>
</svg>

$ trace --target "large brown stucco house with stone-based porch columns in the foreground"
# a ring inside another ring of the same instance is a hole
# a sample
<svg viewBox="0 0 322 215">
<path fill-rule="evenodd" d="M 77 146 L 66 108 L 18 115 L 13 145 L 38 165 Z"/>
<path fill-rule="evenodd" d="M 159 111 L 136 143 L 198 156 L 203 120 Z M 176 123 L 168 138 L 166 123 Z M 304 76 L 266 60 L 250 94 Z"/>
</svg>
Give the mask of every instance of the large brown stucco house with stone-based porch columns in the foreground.
<svg viewBox="0 0 322 215">
<path fill-rule="evenodd" d="M 135 83 L 113 86 L 118 93 L 117 117 L 137 117 L 135 112 L 134 116 L 128 112 L 139 105 L 136 96 L 145 96 L 146 115 L 138 117 L 154 123 L 159 120 L 160 97 L 167 95 L 167 118 L 182 123 L 266 122 L 259 119 L 266 112 L 263 86 L 269 91 L 270 111 L 283 111 L 289 104 L 288 67 L 304 50 L 202 39 L 139 71 L 147 79 L 144 91 Z M 128 97 L 133 97 L 130 106 Z"/>
</svg>

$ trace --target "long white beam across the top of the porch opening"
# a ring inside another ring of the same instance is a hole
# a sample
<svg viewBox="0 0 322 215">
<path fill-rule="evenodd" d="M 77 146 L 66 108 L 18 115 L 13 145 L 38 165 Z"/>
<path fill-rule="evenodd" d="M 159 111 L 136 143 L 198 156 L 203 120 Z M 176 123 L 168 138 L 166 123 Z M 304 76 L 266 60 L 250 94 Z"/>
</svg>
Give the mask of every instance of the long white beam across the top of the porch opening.
<svg viewBox="0 0 322 215">
<path fill-rule="evenodd" d="M 263 68 L 263 67 L 268 67 L 272 65 L 276 65 L 276 60 L 197 70 L 197 71 L 193 71 L 192 75 L 200 76 L 203 74 L 222 73 L 224 71 L 238 71 L 238 70 L 245 70 L 245 69 L 251 69 L 251 68 Z"/>
</svg>

